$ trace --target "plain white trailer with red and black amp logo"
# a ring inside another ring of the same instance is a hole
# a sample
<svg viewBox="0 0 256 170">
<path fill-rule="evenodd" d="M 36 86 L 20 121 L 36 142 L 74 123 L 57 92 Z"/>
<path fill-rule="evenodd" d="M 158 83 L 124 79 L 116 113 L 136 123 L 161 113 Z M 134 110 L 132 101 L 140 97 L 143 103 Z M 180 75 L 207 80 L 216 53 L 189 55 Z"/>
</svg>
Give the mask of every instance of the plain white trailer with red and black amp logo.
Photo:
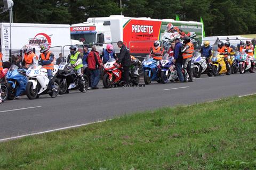
<svg viewBox="0 0 256 170">
<path fill-rule="evenodd" d="M 58 58 L 59 53 L 62 52 L 62 48 L 56 46 L 71 44 L 70 25 L 11 23 L 10 36 L 10 23 L 0 23 L 0 39 L 3 61 L 9 60 L 10 43 L 12 53 L 18 52 L 24 45 L 30 44 L 36 48 L 37 55 L 39 55 L 38 46 L 42 43 L 48 43 L 51 46 L 51 51 L 54 53 L 55 58 Z"/>
</svg>

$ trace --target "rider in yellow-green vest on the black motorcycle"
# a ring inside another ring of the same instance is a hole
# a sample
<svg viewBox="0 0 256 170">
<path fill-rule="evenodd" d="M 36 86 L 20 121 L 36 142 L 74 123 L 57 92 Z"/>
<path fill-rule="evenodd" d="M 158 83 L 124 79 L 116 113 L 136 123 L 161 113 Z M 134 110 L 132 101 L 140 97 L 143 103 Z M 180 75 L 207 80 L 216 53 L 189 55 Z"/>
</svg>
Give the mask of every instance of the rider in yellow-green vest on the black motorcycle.
<svg viewBox="0 0 256 170">
<path fill-rule="evenodd" d="M 78 52 L 78 47 L 76 45 L 71 45 L 69 47 L 70 49 L 70 54 L 68 55 L 68 60 L 67 62 L 71 64 L 72 67 L 74 67 L 78 77 L 81 79 L 82 84 L 85 84 L 83 73 L 82 73 L 82 68 L 83 68 L 83 61 L 82 61 L 82 54 Z M 84 92 L 85 92 L 85 87 L 84 87 Z"/>
</svg>

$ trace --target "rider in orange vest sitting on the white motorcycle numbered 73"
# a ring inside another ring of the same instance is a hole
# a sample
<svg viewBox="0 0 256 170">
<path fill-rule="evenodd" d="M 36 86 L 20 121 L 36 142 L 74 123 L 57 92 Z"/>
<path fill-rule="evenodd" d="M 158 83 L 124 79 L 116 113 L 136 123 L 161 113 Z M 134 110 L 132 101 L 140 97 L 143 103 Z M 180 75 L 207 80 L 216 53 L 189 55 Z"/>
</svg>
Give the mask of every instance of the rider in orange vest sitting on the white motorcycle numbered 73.
<svg viewBox="0 0 256 170">
<path fill-rule="evenodd" d="M 57 90 L 54 87 L 54 80 L 52 76 L 52 70 L 54 69 L 53 67 L 54 54 L 49 51 L 50 47 L 46 43 L 41 44 L 39 47 L 41 48 L 40 50 L 41 54 L 39 55 L 38 64 L 42 65 L 42 68 L 47 70 L 47 76 L 50 80 L 49 85 L 52 92 L 54 93 L 52 97 L 54 97 L 57 95 Z"/>
</svg>

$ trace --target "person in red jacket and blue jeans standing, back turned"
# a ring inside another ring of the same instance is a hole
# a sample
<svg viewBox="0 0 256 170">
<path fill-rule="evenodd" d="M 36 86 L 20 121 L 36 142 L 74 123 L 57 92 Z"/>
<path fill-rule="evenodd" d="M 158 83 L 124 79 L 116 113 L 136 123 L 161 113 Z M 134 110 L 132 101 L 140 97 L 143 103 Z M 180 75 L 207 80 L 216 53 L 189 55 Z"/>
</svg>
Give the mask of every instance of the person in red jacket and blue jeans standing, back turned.
<svg viewBox="0 0 256 170">
<path fill-rule="evenodd" d="M 88 68 L 91 71 L 92 89 L 99 89 L 97 86 L 100 80 L 100 67 L 102 66 L 102 61 L 95 45 L 92 46 L 92 50 L 89 53 L 86 62 L 88 63 Z"/>
</svg>

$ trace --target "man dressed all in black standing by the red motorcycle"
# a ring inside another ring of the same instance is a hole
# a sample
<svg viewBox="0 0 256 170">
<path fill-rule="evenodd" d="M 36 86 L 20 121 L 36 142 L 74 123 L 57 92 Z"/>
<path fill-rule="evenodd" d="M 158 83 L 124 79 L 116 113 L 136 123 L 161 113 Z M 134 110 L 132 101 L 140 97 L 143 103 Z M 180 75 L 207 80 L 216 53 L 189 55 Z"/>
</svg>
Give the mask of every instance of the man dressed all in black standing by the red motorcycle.
<svg viewBox="0 0 256 170">
<path fill-rule="evenodd" d="M 121 48 L 117 62 L 121 63 L 123 66 L 124 83 L 130 84 L 129 71 L 130 71 L 130 66 L 131 66 L 131 56 L 129 54 L 129 50 L 125 47 L 123 41 L 118 41 L 117 46 L 119 48 Z"/>
</svg>

